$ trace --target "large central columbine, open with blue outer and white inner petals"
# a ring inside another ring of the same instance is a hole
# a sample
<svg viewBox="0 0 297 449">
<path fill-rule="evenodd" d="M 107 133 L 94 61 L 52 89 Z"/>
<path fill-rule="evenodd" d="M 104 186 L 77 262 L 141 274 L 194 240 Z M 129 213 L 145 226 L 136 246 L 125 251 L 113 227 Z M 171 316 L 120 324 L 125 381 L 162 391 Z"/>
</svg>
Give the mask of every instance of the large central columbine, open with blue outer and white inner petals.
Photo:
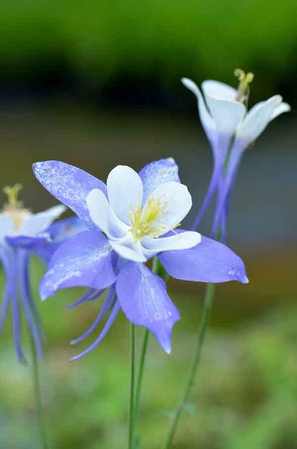
<svg viewBox="0 0 297 449">
<path fill-rule="evenodd" d="M 120 309 L 132 323 L 148 328 L 170 353 L 171 331 L 180 315 L 164 281 L 145 265 L 152 256 L 156 255 L 168 274 L 177 279 L 247 282 L 242 260 L 229 248 L 198 232 L 176 229 L 189 212 L 192 199 L 180 183 L 172 159 L 148 164 L 139 174 L 118 166 L 109 173 L 107 185 L 62 162 L 39 162 L 33 169 L 43 186 L 89 227 L 68 239 L 53 255 L 40 285 L 42 299 L 60 288 L 91 288 L 76 305 L 95 299 L 110 287 L 94 324 L 72 343 L 88 336 L 111 310 L 102 332 L 72 360 L 99 344 Z"/>
</svg>

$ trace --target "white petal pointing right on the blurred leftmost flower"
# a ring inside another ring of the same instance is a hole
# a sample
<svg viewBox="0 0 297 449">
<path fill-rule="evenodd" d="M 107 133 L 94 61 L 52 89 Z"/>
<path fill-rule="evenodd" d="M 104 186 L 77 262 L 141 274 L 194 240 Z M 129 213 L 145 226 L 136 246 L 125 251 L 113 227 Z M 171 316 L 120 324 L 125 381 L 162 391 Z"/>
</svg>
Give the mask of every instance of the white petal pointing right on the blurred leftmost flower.
<svg viewBox="0 0 297 449">
<path fill-rule="evenodd" d="M 17 233 L 19 235 L 34 237 L 45 231 L 66 209 L 66 206 L 59 204 L 58 206 L 51 207 L 47 211 L 30 214 L 25 218 Z"/>
</svg>

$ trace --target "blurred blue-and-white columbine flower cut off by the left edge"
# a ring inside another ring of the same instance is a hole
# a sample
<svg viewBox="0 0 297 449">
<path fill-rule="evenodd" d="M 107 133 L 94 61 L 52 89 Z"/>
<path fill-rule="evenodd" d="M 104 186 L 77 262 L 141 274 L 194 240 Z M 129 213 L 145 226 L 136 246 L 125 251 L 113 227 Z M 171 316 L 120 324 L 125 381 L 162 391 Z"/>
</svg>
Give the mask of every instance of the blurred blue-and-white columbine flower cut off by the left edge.
<svg viewBox="0 0 297 449">
<path fill-rule="evenodd" d="M 39 356 L 42 355 L 41 322 L 30 289 L 29 262 L 33 252 L 46 262 L 59 240 L 67 236 L 67 228 L 73 225 L 73 219 L 57 223 L 52 231 L 49 225 L 65 210 L 59 205 L 39 214 L 32 214 L 17 200 L 21 186 L 5 187 L 8 203 L 0 212 L 0 260 L 5 272 L 5 286 L 0 310 L 0 332 L 5 321 L 8 307 L 12 306 L 14 343 L 19 361 L 25 357 L 21 344 L 19 306 L 24 312 L 28 327 L 34 338 Z M 51 245 L 53 243 L 53 247 Z"/>
</svg>

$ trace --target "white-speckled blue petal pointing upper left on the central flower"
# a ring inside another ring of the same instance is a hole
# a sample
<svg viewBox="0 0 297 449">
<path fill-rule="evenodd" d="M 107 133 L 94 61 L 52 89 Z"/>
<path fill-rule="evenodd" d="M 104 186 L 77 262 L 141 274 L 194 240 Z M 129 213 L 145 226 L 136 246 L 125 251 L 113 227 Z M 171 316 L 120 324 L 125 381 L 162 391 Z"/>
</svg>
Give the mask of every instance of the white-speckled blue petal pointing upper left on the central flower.
<svg viewBox="0 0 297 449">
<path fill-rule="evenodd" d="M 106 186 L 102 181 L 80 168 L 59 161 L 37 162 L 33 165 L 33 171 L 49 193 L 70 207 L 88 226 L 95 227 L 86 198 L 93 189 L 100 189 L 106 195 Z"/>
</svg>

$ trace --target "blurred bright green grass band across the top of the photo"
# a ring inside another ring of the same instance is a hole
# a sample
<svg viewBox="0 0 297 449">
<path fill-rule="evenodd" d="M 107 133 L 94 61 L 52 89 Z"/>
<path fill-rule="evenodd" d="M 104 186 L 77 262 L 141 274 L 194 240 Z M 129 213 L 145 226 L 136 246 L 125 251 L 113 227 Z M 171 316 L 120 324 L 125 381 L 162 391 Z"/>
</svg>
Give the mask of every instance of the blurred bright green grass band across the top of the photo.
<svg viewBox="0 0 297 449">
<path fill-rule="evenodd" d="M 112 91 L 119 78 L 162 80 L 168 89 L 181 76 L 234 83 L 240 66 L 259 75 L 253 93 L 263 98 L 280 83 L 289 89 L 296 49 L 295 0 L 0 5 L 0 77 L 9 82 L 38 83 L 54 73 L 83 81 L 85 91 L 106 83 Z"/>
</svg>

